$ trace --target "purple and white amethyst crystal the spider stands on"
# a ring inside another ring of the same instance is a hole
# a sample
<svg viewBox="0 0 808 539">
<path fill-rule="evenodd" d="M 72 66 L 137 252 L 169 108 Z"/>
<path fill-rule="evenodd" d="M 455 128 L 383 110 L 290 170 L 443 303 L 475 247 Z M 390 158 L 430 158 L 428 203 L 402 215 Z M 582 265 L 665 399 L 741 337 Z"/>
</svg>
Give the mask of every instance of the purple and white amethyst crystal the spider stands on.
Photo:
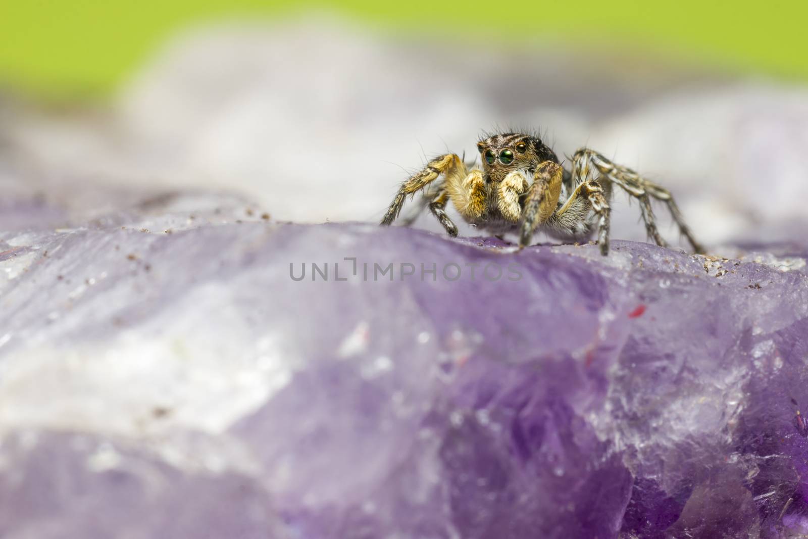
<svg viewBox="0 0 808 539">
<path fill-rule="evenodd" d="M 0 235 L 0 537 L 808 533 L 805 248 L 191 202 Z"/>
</svg>

